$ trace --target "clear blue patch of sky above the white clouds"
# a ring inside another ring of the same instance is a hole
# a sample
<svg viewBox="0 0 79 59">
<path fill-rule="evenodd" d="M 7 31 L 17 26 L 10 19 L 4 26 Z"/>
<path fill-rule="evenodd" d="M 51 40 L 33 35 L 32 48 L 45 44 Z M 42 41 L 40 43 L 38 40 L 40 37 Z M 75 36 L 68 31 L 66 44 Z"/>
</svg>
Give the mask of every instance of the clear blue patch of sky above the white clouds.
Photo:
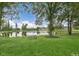
<svg viewBox="0 0 79 59">
<path fill-rule="evenodd" d="M 36 17 L 34 14 L 32 14 L 31 12 L 27 12 L 23 6 L 19 6 L 18 8 L 19 10 L 19 17 L 20 19 L 19 20 L 22 20 L 22 21 L 29 21 L 29 22 L 35 22 L 36 20 Z"/>
</svg>

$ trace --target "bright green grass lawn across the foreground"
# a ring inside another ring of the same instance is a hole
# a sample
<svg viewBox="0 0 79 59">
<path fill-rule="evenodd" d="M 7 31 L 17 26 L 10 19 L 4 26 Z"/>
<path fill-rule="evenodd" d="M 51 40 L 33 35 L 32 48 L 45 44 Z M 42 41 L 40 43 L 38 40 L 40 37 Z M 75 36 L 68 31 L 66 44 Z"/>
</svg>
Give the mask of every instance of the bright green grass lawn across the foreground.
<svg viewBox="0 0 79 59">
<path fill-rule="evenodd" d="M 79 35 L 58 38 L 0 37 L 0 55 L 9 56 L 65 56 L 79 55 Z"/>
</svg>

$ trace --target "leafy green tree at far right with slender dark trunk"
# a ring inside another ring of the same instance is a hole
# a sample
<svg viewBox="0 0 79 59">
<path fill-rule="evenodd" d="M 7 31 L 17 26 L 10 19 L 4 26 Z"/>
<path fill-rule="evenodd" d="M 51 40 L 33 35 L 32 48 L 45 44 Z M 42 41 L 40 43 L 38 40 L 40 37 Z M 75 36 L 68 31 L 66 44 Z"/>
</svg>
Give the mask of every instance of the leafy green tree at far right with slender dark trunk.
<svg viewBox="0 0 79 59">
<path fill-rule="evenodd" d="M 72 34 L 72 25 L 73 21 L 78 19 L 78 12 L 79 12 L 79 4 L 78 3 L 62 3 L 62 8 L 60 8 L 60 12 L 58 12 L 58 22 L 62 23 L 62 21 L 67 21 L 68 22 L 68 34 Z M 62 12 L 63 11 L 63 12 Z"/>
</svg>

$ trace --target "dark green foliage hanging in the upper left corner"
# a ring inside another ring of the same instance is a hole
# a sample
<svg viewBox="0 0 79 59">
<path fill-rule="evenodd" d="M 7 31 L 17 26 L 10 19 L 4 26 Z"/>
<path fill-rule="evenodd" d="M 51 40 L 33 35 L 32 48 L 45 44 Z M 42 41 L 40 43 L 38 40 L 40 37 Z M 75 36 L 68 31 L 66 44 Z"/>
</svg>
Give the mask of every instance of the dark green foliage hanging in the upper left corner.
<svg viewBox="0 0 79 59">
<path fill-rule="evenodd" d="M 11 3 L 9 3 L 9 2 L 0 2 L 0 30 L 1 30 L 1 26 L 3 24 L 2 18 L 4 18 L 6 14 L 11 13 L 10 11 L 5 12 L 4 9 L 5 8 L 11 9 L 11 7 L 13 7 L 15 5 L 16 5 L 16 3 L 13 3 L 13 2 L 11 2 Z"/>
</svg>

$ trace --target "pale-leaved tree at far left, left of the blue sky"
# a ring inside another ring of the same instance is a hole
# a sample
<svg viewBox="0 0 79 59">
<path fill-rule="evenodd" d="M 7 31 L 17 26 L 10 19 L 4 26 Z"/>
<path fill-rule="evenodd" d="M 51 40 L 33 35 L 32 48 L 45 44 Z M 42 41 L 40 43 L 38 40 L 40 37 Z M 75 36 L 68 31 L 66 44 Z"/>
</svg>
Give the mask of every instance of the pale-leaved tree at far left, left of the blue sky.
<svg viewBox="0 0 79 59">
<path fill-rule="evenodd" d="M 12 20 L 14 18 L 17 18 L 16 16 L 18 16 L 18 11 L 17 11 L 17 7 L 18 7 L 19 3 L 14 3 L 14 2 L 0 2 L 0 30 L 1 30 L 1 26 L 3 24 L 2 19 L 8 19 L 8 20 Z M 9 24 L 9 22 L 8 22 Z M 7 28 L 9 29 L 9 25 L 7 26 Z M 11 32 L 12 33 L 12 32 Z"/>
</svg>

